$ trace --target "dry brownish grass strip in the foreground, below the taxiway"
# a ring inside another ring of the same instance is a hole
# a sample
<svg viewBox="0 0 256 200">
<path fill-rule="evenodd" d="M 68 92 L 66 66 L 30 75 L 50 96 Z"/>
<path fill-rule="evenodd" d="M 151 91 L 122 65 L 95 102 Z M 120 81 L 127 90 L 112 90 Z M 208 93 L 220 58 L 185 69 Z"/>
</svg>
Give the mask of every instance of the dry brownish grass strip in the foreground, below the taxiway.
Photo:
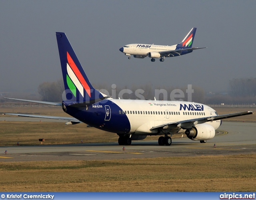
<svg viewBox="0 0 256 200">
<path fill-rule="evenodd" d="M 0 162 L 0 191 L 250 192 L 256 155 Z"/>
</svg>

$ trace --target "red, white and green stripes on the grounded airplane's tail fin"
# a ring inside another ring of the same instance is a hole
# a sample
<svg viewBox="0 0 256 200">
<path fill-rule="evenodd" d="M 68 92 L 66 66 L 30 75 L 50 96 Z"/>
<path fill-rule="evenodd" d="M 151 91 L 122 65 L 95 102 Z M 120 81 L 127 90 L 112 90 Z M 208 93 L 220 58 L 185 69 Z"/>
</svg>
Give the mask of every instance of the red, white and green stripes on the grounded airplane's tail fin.
<svg viewBox="0 0 256 200">
<path fill-rule="evenodd" d="M 82 76 L 78 67 L 74 63 L 72 57 L 69 55 L 68 51 L 67 51 L 67 60 L 68 60 L 68 63 L 67 63 L 68 74 L 66 76 L 66 80 L 67 80 L 69 89 L 71 90 L 71 92 L 75 97 L 76 97 L 76 88 L 78 89 L 82 97 L 84 97 L 84 89 L 86 93 L 89 95 L 89 97 L 91 97 L 90 87 L 86 83 L 84 77 Z"/>
</svg>

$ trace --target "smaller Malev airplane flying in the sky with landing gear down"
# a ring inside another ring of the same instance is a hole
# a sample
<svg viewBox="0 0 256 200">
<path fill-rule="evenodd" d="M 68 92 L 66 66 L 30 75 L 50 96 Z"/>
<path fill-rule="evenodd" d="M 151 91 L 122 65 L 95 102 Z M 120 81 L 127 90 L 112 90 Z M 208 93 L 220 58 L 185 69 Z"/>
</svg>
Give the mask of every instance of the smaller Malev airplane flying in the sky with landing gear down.
<svg viewBox="0 0 256 200">
<path fill-rule="evenodd" d="M 204 49 L 192 47 L 194 37 L 196 34 L 196 28 L 192 28 L 188 35 L 182 40 L 180 44 L 175 44 L 172 46 L 162 46 L 155 44 L 127 44 L 120 48 L 119 51 L 128 55 L 131 59 L 131 55 L 135 58 L 151 57 L 151 61 L 156 61 L 155 58 L 160 58 L 163 62 L 165 57 L 175 57 L 180 55 L 185 55 L 191 53 L 193 50 Z"/>
</svg>

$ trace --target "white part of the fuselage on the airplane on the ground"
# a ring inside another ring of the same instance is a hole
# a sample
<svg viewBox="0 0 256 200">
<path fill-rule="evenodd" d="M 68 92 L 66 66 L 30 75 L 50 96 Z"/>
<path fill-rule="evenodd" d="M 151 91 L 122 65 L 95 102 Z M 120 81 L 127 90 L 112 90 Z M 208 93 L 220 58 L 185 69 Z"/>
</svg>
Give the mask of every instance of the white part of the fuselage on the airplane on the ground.
<svg viewBox="0 0 256 200">
<path fill-rule="evenodd" d="M 150 135 L 152 127 L 165 123 L 218 115 L 207 105 L 186 101 L 109 100 L 122 109 L 120 115 L 127 115 L 131 127 L 130 134 L 134 135 Z M 220 127 L 220 120 L 206 123 L 215 130 Z M 184 133 L 182 130 L 178 132 Z"/>
</svg>

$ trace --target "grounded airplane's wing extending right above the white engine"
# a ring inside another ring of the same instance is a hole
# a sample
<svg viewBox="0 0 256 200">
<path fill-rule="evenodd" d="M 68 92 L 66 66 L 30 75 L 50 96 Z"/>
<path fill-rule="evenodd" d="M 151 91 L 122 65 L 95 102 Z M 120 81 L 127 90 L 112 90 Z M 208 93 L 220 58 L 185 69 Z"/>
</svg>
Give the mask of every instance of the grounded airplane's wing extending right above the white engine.
<svg viewBox="0 0 256 200">
<path fill-rule="evenodd" d="M 154 126 L 150 130 L 154 129 L 174 129 L 176 127 L 181 127 L 182 129 L 191 129 L 194 127 L 194 125 L 197 124 L 202 124 L 208 121 L 216 121 L 220 119 L 226 119 L 230 117 L 238 117 L 242 115 L 250 115 L 253 114 L 252 111 L 246 111 L 246 112 L 241 112 L 241 113 L 231 113 L 231 114 L 226 114 L 226 115 L 216 115 L 212 117 L 201 117 L 201 118 L 195 118 L 195 119 L 188 119 L 188 120 L 183 120 L 183 121 L 176 121 L 176 122 L 171 122 L 171 123 L 165 123 L 162 125 Z"/>
</svg>

